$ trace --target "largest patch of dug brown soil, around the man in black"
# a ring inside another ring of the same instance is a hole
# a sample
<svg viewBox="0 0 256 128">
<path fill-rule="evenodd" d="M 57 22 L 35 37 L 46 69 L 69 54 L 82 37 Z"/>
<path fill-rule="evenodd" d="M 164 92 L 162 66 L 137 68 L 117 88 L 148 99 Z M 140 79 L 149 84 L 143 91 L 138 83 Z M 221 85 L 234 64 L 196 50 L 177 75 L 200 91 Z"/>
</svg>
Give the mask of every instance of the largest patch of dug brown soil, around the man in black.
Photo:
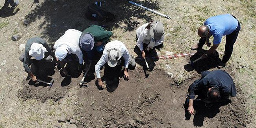
<svg viewBox="0 0 256 128">
<path fill-rule="evenodd" d="M 249 117 L 241 96 L 229 102 L 213 104 L 210 109 L 195 102 L 196 115 L 185 115 L 185 93 L 199 75 L 185 80 L 180 86 L 171 86 L 164 72 L 154 70 L 145 78 L 142 69 L 130 71 L 130 80 L 120 80 L 113 93 L 99 91 L 95 82 L 81 88 L 76 115 L 80 127 L 245 127 Z M 227 116 L 228 115 L 228 116 Z M 186 121 L 187 120 L 187 121 Z"/>
</svg>

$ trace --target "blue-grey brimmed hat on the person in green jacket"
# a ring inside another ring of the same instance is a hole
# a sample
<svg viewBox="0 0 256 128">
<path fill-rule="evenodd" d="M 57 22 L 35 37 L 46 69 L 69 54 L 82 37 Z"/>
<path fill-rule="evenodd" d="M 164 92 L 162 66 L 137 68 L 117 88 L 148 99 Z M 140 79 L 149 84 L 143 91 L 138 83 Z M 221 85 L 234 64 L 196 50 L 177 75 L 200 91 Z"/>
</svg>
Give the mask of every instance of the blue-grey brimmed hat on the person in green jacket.
<svg viewBox="0 0 256 128">
<path fill-rule="evenodd" d="M 79 38 L 79 45 L 84 51 L 90 51 L 93 49 L 95 42 L 91 33 L 83 32 Z"/>
</svg>

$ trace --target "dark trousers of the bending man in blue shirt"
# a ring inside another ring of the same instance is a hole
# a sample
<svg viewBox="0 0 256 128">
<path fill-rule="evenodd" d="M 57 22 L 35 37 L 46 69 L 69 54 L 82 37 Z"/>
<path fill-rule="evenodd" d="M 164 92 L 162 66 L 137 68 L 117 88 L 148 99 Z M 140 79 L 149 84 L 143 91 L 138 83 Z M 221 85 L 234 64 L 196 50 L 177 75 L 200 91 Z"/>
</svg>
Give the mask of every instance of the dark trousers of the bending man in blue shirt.
<svg viewBox="0 0 256 128">
<path fill-rule="evenodd" d="M 234 18 L 236 18 L 236 17 L 234 17 Z M 228 60 L 230 59 L 231 54 L 233 52 L 233 46 L 236 43 L 236 39 L 237 39 L 240 29 L 241 29 L 240 23 L 238 22 L 236 30 L 234 30 L 234 32 L 230 33 L 229 35 L 226 35 L 225 52 L 224 52 L 224 56 L 222 58 L 223 63 L 228 62 Z M 204 46 L 205 42 L 206 42 L 206 38 L 201 37 L 199 40 L 199 43 L 198 43 L 198 48 L 202 48 Z"/>
</svg>

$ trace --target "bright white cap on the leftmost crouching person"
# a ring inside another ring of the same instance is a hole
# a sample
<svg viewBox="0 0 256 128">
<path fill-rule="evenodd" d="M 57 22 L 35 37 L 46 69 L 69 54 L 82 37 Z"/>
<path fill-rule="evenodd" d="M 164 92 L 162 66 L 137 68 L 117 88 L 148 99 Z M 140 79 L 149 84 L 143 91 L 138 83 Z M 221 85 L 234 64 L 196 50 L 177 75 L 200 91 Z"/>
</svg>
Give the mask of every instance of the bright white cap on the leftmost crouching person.
<svg viewBox="0 0 256 128">
<path fill-rule="evenodd" d="M 29 56 L 33 56 L 36 60 L 41 60 L 45 58 L 45 52 L 46 48 L 42 44 L 32 43 L 28 54 Z"/>
</svg>

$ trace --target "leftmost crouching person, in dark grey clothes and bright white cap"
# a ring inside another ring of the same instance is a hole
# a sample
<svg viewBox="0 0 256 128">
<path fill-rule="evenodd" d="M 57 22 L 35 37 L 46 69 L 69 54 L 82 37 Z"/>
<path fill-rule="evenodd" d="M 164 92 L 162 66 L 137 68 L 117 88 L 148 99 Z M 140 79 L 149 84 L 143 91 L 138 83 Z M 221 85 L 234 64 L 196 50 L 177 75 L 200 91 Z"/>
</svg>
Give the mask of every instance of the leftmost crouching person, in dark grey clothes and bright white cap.
<svg viewBox="0 0 256 128">
<path fill-rule="evenodd" d="M 46 62 L 52 62 L 55 58 L 54 52 L 50 49 L 45 40 L 40 37 L 28 39 L 25 45 L 25 52 L 20 55 L 19 59 L 23 62 L 23 67 L 33 81 L 37 81 L 36 76 L 32 73 L 30 65 L 36 60 L 44 59 Z"/>
</svg>

